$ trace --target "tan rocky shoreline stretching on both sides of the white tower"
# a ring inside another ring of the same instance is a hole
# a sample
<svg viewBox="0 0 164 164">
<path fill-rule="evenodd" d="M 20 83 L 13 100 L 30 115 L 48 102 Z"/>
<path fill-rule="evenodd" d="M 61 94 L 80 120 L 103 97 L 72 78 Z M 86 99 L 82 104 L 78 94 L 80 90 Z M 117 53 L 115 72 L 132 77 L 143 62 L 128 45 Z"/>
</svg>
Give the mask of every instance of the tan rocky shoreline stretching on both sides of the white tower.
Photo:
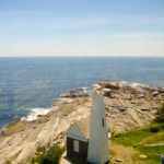
<svg viewBox="0 0 164 164">
<path fill-rule="evenodd" d="M 108 127 L 115 133 L 150 124 L 164 103 L 162 87 L 113 81 L 98 82 L 96 90 L 104 94 Z M 47 115 L 11 122 L 0 132 L 0 163 L 25 164 L 38 145 L 63 145 L 66 130 L 90 116 L 91 104 L 85 90 L 77 89 L 61 95 Z"/>
</svg>

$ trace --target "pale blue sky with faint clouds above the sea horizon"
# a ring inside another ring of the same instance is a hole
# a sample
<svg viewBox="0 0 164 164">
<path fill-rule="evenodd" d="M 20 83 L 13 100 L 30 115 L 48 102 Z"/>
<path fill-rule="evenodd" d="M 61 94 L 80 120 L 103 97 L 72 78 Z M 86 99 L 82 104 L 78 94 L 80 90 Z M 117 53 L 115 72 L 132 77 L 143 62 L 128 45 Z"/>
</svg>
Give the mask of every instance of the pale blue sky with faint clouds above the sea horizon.
<svg viewBox="0 0 164 164">
<path fill-rule="evenodd" d="M 164 0 L 0 0 L 0 57 L 164 57 Z"/>
</svg>

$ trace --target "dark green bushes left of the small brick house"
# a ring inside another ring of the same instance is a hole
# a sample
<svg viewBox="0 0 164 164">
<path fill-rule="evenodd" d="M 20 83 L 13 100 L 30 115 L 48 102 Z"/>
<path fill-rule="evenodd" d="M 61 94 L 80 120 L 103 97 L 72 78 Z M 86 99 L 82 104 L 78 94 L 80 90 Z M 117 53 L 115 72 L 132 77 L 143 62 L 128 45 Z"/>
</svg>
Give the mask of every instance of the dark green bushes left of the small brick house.
<svg viewBox="0 0 164 164">
<path fill-rule="evenodd" d="M 54 144 L 46 150 L 45 147 L 38 147 L 36 156 L 32 159 L 32 163 L 37 164 L 58 164 L 65 149 Z"/>
</svg>

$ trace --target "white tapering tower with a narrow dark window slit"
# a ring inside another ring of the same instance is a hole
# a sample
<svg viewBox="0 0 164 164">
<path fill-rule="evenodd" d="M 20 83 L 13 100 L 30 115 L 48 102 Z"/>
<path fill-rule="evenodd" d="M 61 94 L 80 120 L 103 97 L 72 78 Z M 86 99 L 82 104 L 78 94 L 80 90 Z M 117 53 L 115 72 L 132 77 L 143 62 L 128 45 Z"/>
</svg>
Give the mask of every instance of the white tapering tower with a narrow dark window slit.
<svg viewBox="0 0 164 164">
<path fill-rule="evenodd" d="M 87 161 L 104 164 L 109 161 L 108 129 L 103 95 L 92 95 Z"/>
</svg>

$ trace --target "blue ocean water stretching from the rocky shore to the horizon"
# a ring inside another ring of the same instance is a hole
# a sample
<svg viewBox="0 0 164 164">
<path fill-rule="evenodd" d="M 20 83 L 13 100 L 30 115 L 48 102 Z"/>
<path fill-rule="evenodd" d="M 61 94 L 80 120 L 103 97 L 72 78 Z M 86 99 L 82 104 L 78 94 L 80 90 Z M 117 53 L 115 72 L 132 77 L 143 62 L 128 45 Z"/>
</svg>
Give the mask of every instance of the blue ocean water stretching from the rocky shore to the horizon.
<svg viewBox="0 0 164 164">
<path fill-rule="evenodd" d="M 0 58 L 0 127 L 103 80 L 164 86 L 164 58 Z"/>
</svg>

